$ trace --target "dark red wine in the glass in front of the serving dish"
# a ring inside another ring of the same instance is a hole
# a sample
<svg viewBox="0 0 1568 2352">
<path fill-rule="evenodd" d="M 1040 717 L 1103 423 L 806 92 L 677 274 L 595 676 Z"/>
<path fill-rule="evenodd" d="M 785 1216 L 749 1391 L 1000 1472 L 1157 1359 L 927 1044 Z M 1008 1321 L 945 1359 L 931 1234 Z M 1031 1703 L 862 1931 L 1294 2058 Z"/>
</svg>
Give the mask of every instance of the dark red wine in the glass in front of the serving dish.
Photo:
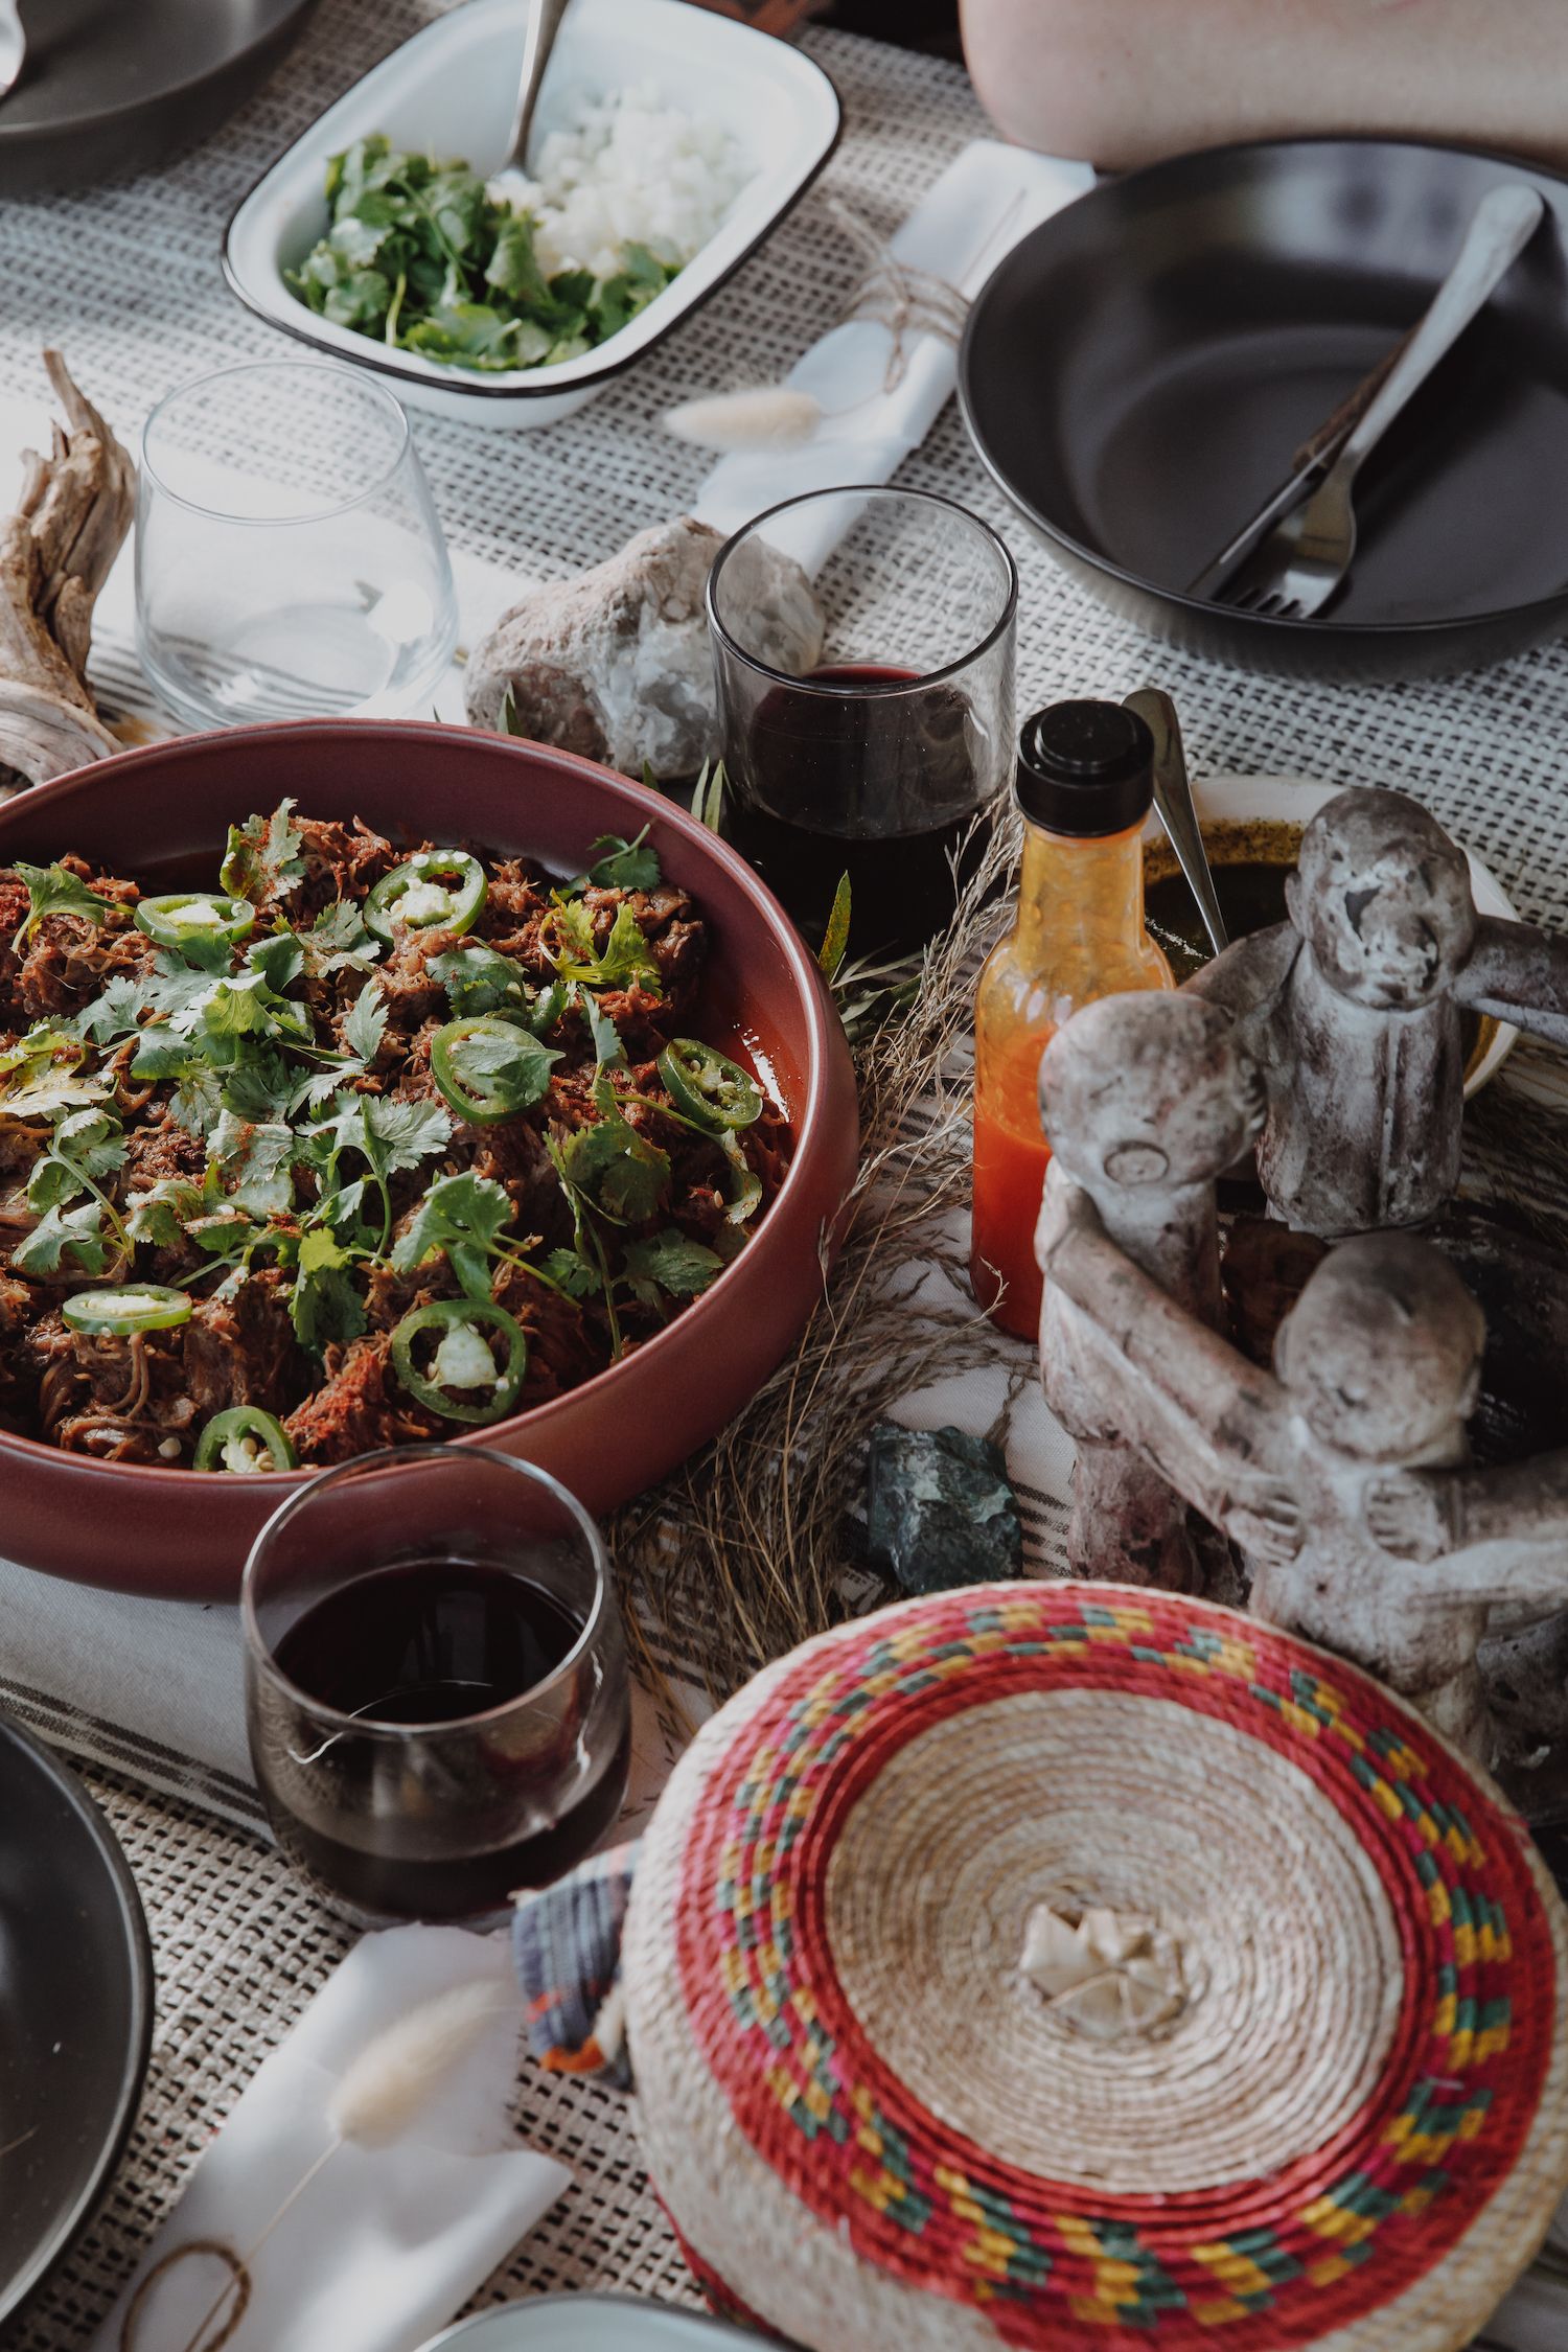
<svg viewBox="0 0 1568 2352">
<path fill-rule="evenodd" d="M 371 1569 L 313 1602 L 277 1642 L 277 1670 L 367 1729 L 322 1738 L 299 1722 L 287 1764 L 277 1740 L 261 1745 L 289 1858 L 355 1912 L 416 1919 L 487 1915 L 571 1870 L 616 1820 L 630 1762 L 623 1710 L 583 1764 L 571 1677 L 552 1679 L 583 1630 L 527 1576 L 454 1559 Z M 538 1710 L 515 1710 L 536 1689 Z"/>
</svg>

